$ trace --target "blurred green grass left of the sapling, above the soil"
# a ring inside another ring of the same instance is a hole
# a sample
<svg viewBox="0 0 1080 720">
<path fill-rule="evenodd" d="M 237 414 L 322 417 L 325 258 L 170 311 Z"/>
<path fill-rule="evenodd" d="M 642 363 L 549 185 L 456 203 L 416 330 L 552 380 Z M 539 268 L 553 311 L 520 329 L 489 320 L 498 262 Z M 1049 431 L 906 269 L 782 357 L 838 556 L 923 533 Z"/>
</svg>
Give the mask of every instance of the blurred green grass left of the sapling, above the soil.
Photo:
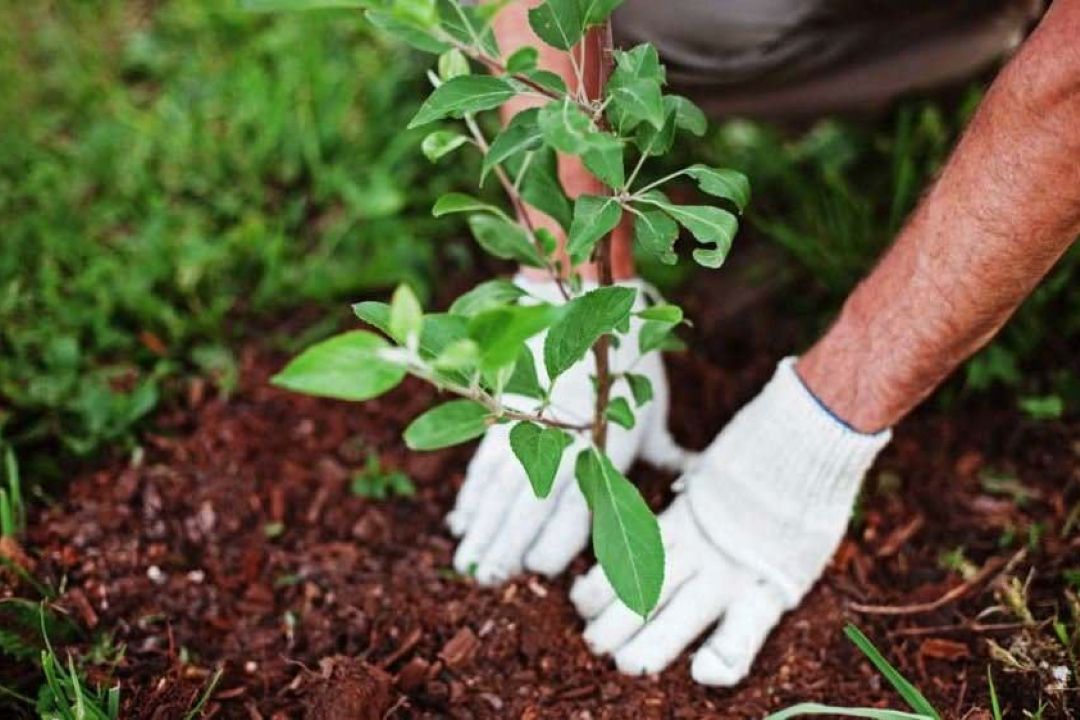
<svg viewBox="0 0 1080 720">
<path fill-rule="evenodd" d="M 228 383 L 237 318 L 429 287 L 458 175 L 402 130 L 422 60 L 354 13 L 228 8 L 0 9 L 9 440 L 123 444 L 170 378 Z"/>
</svg>

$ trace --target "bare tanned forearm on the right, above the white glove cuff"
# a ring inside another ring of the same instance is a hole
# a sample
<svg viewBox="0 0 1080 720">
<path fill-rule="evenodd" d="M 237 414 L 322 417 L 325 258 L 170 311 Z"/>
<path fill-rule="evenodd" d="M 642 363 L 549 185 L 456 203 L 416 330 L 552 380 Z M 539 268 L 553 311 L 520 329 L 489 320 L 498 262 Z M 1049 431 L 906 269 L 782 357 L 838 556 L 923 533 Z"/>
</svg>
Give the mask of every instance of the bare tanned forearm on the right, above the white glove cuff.
<svg viewBox="0 0 1080 720">
<path fill-rule="evenodd" d="M 934 188 L 798 372 L 854 427 L 894 424 L 1080 233 L 1080 0 L 995 81 Z"/>
</svg>

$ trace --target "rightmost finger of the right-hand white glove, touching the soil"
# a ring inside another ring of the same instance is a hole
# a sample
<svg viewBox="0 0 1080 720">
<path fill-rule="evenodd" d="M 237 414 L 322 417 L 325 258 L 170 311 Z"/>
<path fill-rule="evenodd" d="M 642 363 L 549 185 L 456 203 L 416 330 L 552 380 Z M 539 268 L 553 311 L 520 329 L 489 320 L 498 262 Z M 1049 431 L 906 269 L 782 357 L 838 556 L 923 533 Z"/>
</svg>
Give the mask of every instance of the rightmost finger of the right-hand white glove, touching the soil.
<svg viewBox="0 0 1080 720">
<path fill-rule="evenodd" d="M 769 633 L 784 614 L 780 595 L 765 581 L 752 581 L 731 603 L 720 627 L 694 653 L 690 674 L 706 685 L 729 687 L 750 673 Z"/>
</svg>

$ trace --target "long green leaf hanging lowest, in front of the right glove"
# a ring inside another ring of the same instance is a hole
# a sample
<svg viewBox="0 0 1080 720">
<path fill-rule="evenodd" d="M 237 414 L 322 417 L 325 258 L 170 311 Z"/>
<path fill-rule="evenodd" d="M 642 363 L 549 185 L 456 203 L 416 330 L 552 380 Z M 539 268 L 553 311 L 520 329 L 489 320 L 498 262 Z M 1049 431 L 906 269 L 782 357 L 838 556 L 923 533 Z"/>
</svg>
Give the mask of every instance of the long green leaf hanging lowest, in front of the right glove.
<svg viewBox="0 0 1080 720">
<path fill-rule="evenodd" d="M 647 616 L 664 582 L 664 547 L 656 516 L 607 456 L 582 450 L 575 467 L 593 513 L 593 553 L 623 603 Z"/>
</svg>

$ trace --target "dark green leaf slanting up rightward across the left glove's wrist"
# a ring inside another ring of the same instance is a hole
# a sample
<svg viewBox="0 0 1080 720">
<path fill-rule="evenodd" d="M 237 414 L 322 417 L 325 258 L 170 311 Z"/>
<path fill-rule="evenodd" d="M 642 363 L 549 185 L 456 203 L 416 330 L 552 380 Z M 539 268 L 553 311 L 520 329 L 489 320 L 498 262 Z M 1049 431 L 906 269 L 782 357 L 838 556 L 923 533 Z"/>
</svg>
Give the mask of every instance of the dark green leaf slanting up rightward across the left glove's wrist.
<svg viewBox="0 0 1080 720">
<path fill-rule="evenodd" d="M 637 290 L 632 287 L 598 287 L 566 303 L 544 338 L 543 362 L 554 380 L 568 370 L 596 340 L 611 332 L 630 315 Z"/>
</svg>

